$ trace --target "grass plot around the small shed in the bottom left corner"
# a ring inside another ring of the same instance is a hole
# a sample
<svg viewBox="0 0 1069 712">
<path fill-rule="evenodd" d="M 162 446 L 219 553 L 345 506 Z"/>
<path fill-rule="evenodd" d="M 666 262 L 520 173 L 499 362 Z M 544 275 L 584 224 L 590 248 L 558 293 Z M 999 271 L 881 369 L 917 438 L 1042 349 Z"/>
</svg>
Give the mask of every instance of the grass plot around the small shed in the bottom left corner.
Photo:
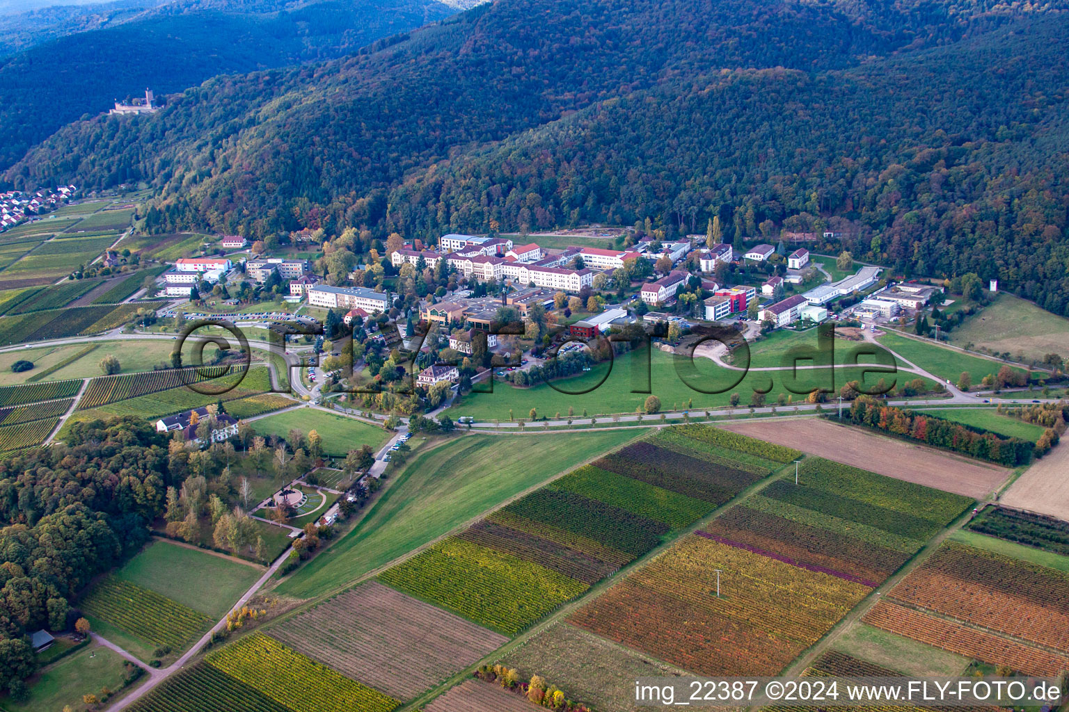
<svg viewBox="0 0 1069 712">
<path fill-rule="evenodd" d="M 9 712 L 58 712 L 69 705 L 82 709 L 81 696 L 100 696 L 100 687 L 118 690 L 123 683 L 123 658 L 102 645 L 90 645 L 61 660 L 55 667 L 30 680 L 30 699 L 14 702 L 6 696 L 0 705 Z"/>
</svg>

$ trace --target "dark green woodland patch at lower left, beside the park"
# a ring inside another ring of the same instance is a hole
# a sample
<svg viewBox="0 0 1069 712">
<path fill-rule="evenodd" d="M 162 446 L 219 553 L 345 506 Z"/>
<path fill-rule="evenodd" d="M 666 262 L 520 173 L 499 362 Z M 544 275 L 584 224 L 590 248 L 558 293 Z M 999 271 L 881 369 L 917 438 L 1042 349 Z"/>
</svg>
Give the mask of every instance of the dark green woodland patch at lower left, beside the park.
<svg viewBox="0 0 1069 712">
<path fill-rule="evenodd" d="M 169 457 L 150 423 L 122 417 L 0 459 L 0 689 L 20 692 L 35 668 L 27 633 L 71 630 L 75 594 L 148 540 L 175 484 Z"/>
</svg>

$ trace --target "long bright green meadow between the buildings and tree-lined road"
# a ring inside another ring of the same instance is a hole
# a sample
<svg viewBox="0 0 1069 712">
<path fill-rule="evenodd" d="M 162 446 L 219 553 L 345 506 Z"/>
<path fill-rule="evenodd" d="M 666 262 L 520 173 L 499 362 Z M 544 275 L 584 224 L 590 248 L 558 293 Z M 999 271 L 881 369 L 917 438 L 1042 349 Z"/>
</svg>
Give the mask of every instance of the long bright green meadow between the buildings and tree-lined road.
<svg viewBox="0 0 1069 712">
<path fill-rule="evenodd" d="M 724 408 L 729 404 L 732 393 L 739 393 L 742 398 L 741 405 L 748 406 L 754 389 L 769 389 L 770 402 L 775 401 L 780 393 L 793 395 L 793 400 L 804 400 L 805 394 L 818 384 L 825 384 L 828 380 L 828 370 L 834 379 L 834 391 L 838 391 L 848 381 L 861 378 L 864 368 L 836 368 L 797 371 L 797 383 L 793 386 L 795 391 L 802 393 L 792 394 L 788 389 L 788 371 L 750 371 L 744 375 L 742 382 L 732 385 L 740 377 L 739 371 L 730 371 L 716 366 L 709 359 L 695 359 L 696 375 L 687 378 L 692 379 L 704 390 L 717 390 L 722 393 L 704 394 L 690 387 L 678 375 L 677 364 L 686 365 L 686 359 L 676 359 L 670 354 L 653 349 L 650 353 L 649 370 L 646 364 L 636 352 L 629 352 L 617 357 L 613 370 L 605 382 L 598 385 L 599 380 L 605 374 L 605 366 L 600 365 L 590 373 L 582 374 L 567 379 L 553 382 L 553 386 L 540 383 L 528 389 L 516 389 L 506 383 L 496 383 L 493 393 L 469 393 L 464 396 L 460 405 L 449 409 L 449 415 L 456 420 L 462 415 L 472 415 L 480 421 L 508 421 L 509 410 L 512 410 L 516 420 L 527 420 L 531 408 L 537 410 L 539 417 L 545 415 L 554 417 L 558 412 L 561 416 L 567 416 L 569 407 L 575 411 L 575 417 L 579 417 L 584 409 L 590 415 L 604 413 L 633 413 L 635 409 L 644 404 L 648 394 L 632 393 L 631 391 L 640 386 L 645 382 L 644 374 L 649 374 L 651 389 L 654 395 L 661 398 L 663 410 L 673 408 L 686 408 L 688 400 L 693 400 L 692 408 L 700 410 L 703 408 Z M 633 380 L 633 371 L 637 371 L 637 378 Z M 823 381 L 818 378 L 823 375 Z M 901 374 L 897 377 L 898 385 L 901 386 L 914 377 L 911 374 Z M 870 376 L 866 383 L 872 386 L 880 380 L 880 376 Z M 887 377 L 888 383 L 896 380 L 894 375 Z M 561 393 L 556 389 L 567 389 L 570 392 L 582 392 L 583 395 L 571 395 Z"/>
</svg>

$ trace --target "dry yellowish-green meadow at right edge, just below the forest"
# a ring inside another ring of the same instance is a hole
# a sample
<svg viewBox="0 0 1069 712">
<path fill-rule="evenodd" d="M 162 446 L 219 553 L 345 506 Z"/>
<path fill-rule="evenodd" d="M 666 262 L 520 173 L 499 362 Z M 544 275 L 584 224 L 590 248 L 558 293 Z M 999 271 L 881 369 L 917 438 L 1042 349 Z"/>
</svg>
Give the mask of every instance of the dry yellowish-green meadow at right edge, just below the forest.
<svg viewBox="0 0 1069 712">
<path fill-rule="evenodd" d="M 972 343 L 998 352 L 1009 351 L 1013 357 L 1021 352 L 1025 359 L 1042 360 L 1048 353 L 1069 355 L 1067 334 L 1069 319 L 1003 292 L 950 332 L 950 343 L 957 346 Z"/>
</svg>

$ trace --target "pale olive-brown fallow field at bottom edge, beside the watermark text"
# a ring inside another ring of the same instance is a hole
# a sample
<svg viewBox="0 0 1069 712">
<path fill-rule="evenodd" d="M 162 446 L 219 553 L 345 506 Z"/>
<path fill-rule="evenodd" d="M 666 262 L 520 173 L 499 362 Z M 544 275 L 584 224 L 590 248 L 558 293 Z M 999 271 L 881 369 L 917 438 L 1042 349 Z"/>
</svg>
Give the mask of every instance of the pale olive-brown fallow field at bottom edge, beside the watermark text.
<svg viewBox="0 0 1069 712">
<path fill-rule="evenodd" d="M 555 623 L 501 661 L 521 679 L 541 675 L 573 700 L 599 712 L 642 712 L 634 703 L 635 679 L 687 675 L 684 670 L 610 643 L 568 623 Z"/>
</svg>

